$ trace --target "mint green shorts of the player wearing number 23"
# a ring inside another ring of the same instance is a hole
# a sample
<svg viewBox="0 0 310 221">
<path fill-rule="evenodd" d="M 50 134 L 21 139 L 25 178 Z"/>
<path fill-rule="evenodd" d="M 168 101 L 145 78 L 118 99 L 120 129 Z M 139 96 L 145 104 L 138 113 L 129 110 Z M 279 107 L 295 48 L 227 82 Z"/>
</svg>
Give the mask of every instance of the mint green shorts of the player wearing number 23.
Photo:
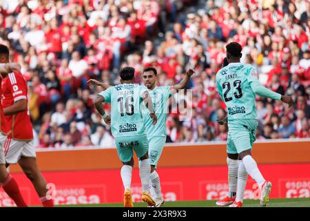
<svg viewBox="0 0 310 221">
<path fill-rule="evenodd" d="M 228 121 L 227 153 L 241 153 L 252 148 L 256 140 L 256 119 L 234 119 Z"/>
</svg>

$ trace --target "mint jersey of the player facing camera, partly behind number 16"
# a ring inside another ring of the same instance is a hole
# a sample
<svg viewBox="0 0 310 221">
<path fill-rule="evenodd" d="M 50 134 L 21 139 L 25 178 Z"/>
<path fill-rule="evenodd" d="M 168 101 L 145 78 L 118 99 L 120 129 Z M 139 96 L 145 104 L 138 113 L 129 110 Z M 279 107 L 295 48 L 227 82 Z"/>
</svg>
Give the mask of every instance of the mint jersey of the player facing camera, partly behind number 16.
<svg viewBox="0 0 310 221">
<path fill-rule="evenodd" d="M 152 98 L 154 112 L 157 115 L 157 123 L 153 125 L 153 119 L 149 116 L 147 108 L 143 108 L 143 119 L 145 122 L 145 133 L 147 138 L 164 137 L 167 135 L 166 122 L 168 113 L 168 101 L 172 96 L 171 86 L 156 86 L 153 90 L 149 90 Z"/>
</svg>

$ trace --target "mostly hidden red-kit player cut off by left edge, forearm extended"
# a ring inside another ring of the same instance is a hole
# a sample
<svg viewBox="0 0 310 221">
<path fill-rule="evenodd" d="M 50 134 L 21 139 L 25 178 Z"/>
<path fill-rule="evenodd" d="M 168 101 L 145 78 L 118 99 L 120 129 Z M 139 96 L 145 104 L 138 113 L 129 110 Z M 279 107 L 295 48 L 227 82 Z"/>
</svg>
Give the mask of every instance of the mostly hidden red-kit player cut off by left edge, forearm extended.
<svg viewBox="0 0 310 221">
<path fill-rule="evenodd" d="M 1 46 L 0 46 L 1 47 Z M 0 49 L 1 50 L 1 49 Z M 2 79 L 2 75 L 6 75 L 13 70 L 19 70 L 20 66 L 19 64 L 0 64 L 0 82 Z M 0 83 L 0 93 L 1 93 L 1 83 Z M 4 131 L 7 131 L 6 124 L 1 124 L 1 121 L 4 117 L 1 102 L 0 102 L 0 132 L 5 133 Z M 6 193 L 14 200 L 15 204 L 19 207 L 26 207 L 27 204 L 25 204 L 25 201 L 23 200 L 23 197 L 21 196 L 21 192 L 19 191 L 19 186 L 17 185 L 17 182 L 14 180 L 12 175 L 8 173 L 6 170 L 6 159 L 4 156 L 3 146 L 2 144 L 6 141 L 6 136 L 1 136 L 0 138 L 0 186 L 2 186 L 3 190 L 6 191 Z"/>
</svg>

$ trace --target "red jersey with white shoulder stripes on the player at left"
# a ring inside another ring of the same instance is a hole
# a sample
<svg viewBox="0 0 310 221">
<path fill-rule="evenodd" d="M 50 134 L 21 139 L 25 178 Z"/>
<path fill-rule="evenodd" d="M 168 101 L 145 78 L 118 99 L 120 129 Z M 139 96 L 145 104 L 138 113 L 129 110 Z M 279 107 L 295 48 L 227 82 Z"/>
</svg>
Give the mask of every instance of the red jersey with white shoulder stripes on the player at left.
<svg viewBox="0 0 310 221">
<path fill-rule="evenodd" d="M 10 73 L 2 80 L 1 103 L 3 108 L 12 106 L 14 102 L 27 98 L 28 88 L 23 75 L 19 72 Z M 32 124 L 30 112 L 22 111 L 15 115 L 7 115 L 1 119 L 2 124 L 6 124 L 7 130 L 11 131 L 12 139 L 30 141 L 33 140 Z"/>
</svg>

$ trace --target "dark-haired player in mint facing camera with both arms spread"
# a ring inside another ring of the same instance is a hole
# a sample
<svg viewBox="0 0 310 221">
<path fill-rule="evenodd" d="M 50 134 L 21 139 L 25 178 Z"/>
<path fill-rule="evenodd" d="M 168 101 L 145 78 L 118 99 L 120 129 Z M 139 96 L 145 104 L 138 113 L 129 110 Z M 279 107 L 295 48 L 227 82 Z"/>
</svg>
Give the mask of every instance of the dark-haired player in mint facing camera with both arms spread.
<svg viewBox="0 0 310 221">
<path fill-rule="evenodd" d="M 178 90 L 184 89 L 190 77 L 194 74 L 194 70 L 187 70 L 185 78 L 180 83 L 174 86 L 156 86 L 157 85 L 157 71 L 155 68 L 149 67 L 143 70 L 143 84 L 149 91 L 149 95 L 152 98 L 154 112 L 157 115 L 158 122 L 155 126 L 152 125 L 152 118 L 147 114 L 146 108 L 143 110 L 143 119 L 145 122 L 145 132 L 147 134 L 147 140 L 149 142 L 149 159 L 151 164 L 151 175 L 150 175 L 150 189 L 152 198 L 156 202 L 156 207 L 164 204 L 163 196 L 161 195 L 161 183 L 156 172 L 156 166 L 163 147 L 166 142 L 166 121 L 167 121 L 167 107 L 168 100 Z M 90 84 L 96 84 L 103 88 L 110 88 L 109 84 L 105 84 L 95 79 L 88 81 Z"/>
</svg>

